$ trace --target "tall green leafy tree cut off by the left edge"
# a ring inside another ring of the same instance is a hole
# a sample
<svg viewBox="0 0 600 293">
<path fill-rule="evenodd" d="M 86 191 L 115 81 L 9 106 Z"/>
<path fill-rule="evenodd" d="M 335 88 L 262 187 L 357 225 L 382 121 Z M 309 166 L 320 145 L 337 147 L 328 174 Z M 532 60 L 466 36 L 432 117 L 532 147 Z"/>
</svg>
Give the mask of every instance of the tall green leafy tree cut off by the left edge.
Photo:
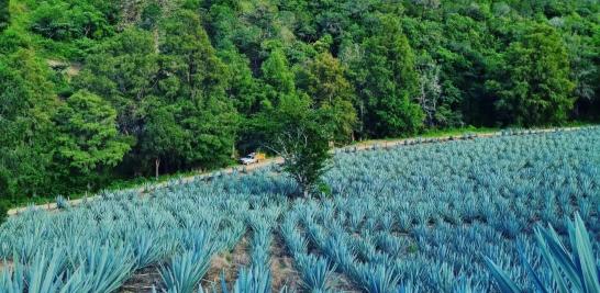
<svg viewBox="0 0 600 293">
<path fill-rule="evenodd" d="M 0 57 L 0 196 L 59 191 L 51 176 L 57 101 L 49 78 L 31 50 Z"/>
</svg>

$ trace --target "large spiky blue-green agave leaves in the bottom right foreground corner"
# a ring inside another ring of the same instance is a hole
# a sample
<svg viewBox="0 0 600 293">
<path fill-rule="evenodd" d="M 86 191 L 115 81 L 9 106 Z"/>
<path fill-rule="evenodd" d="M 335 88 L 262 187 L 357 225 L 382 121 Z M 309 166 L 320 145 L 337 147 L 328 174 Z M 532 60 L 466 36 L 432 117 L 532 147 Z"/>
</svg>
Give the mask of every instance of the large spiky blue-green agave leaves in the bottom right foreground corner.
<svg viewBox="0 0 600 293">
<path fill-rule="evenodd" d="M 530 262 L 524 258 L 524 253 L 520 250 L 525 268 L 534 280 L 534 283 L 540 292 L 580 292 L 596 293 L 600 292 L 600 266 L 596 263 L 590 237 L 584 221 L 577 213 L 575 221 L 569 223 L 569 241 L 573 253 L 569 253 L 567 248 L 560 243 L 558 234 L 552 226 L 545 229 L 537 227 L 535 237 L 542 257 L 552 271 L 555 289 L 548 289 L 544 284 L 538 274 L 533 270 Z M 498 282 L 498 286 L 503 293 L 521 292 L 516 283 L 514 283 L 507 273 L 497 266 L 493 261 L 486 257 L 486 262 Z"/>
</svg>

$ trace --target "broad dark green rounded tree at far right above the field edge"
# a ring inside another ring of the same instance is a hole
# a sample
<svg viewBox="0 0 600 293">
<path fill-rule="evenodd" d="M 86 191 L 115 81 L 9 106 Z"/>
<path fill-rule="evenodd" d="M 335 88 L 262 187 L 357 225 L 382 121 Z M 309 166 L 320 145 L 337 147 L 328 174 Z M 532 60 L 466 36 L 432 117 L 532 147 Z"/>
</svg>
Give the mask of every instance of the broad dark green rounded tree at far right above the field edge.
<svg viewBox="0 0 600 293">
<path fill-rule="evenodd" d="M 504 54 L 502 70 L 488 87 L 496 92 L 498 117 L 524 126 L 563 123 L 573 109 L 567 52 L 547 25 L 534 25 Z"/>
</svg>

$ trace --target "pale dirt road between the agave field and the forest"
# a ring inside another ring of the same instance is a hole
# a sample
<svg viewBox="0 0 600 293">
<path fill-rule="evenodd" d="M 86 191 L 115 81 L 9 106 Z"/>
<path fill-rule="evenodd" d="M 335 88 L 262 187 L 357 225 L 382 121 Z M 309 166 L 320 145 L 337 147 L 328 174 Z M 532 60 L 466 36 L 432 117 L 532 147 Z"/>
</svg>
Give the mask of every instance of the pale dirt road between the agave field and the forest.
<svg viewBox="0 0 600 293">
<path fill-rule="evenodd" d="M 524 135 L 554 133 L 557 129 L 559 129 L 560 132 L 571 132 L 571 131 L 578 131 L 578 129 L 581 129 L 581 128 L 585 128 L 585 127 L 586 126 L 584 126 L 584 127 L 529 129 L 530 133 L 526 133 Z M 471 138 L 496 137 L 496 136 L 501 136 L 501 135 L 502 135 L 501 132 L 478 133 L 478 134 L 475 134 Z M 362 150 L 373 149 L 374 147 L 377 147 L 377 148 L 391 148 L 391 147 L 401 146 L 401 145 L 409 145 L 409 144 L 414 145 L 414 144 L 423 144 L 423 143 L 442 143 L 442 142 L 460 140 L 460 139 L 465 139 L 465 138 L 463 136 L 460 136 L 460 135 L 446 135 L 446 136 L 437 136 L 437 137 L 429 137 L 429 138 L 412 137 L 412 138 L 401 138 L 401 139 L 391 139 L 391 140 L 384 140 L 384 139 L 368 140 L 368 142 L 357 143 L 357 144 L 353 144 L 353 145 L 341 147 L 341 148 L 335 148 L 332 151 L 344 151 L 344 150 L 362 151 Z M 265 168 L 265 167 L 268 167 L 268 166 L 271 166 L 271 165 L 279 165 L 279 164 L 282 164 L 282 162 L 284 162 L 282 158 L 279 158 L 279 157 L 269 158 L 269 159 L 266 159 L 264 161 L 253 164 L 253 165 L 249 165 L 249 166 L 238 165 L 238 166 L 229 167 L 229 168 L 225 168 L 225 169 L 220 169 L 220 170 L 215 170 L 215 171 L 211 171 L 211 172 L 207 172 L 207 173 L 199 173 L 199 174 L 196 174 L 196 176 L 185 177 L 182 179 L 177 180 L 177 182 L 179 182 L 180 184 L 186 184 L 186 183 L 189 183 L 189 182 L 195 181 L 195 180 L 210 179 L 215 174 L 223 174 L 223 173 L 224 174 L 231 174 L 231 173 L 236 172 L 236 171 L 237 172 L 242 171 L 243 173 L 251 173 L 254 170 L 262 169 L 262 168 Z M 165 188 L 165 187 L 168 185 L 168 183 L 169 182 L 156 183 L 156 184 L 153 185 L 153 190 Z M 134 191 L 134 192 L 138 192 L 140 194 L 144 194 L 146 190 L 145 190 L 145 188 L 133 188 L 133 189 L 124 190 L 124 191 Z M 98 199 L 98 198 L 99 198 L 99 195 L 95 195 L 95 196 L 91 196 L 91 198 L 71 200 L 71 201 L 68 201 L 68 202 L 69 202 L 70 206 L 74 206 L 74 205 L 78 205 L 78 204 L 80 204 L 82 202 L 86 202 L 86 201 L 92 201 L 92 200 Z M 41 210 L 47 210 L 47 211 L 52 211 L 52 210 L 57 209 L 56 203 L 34 205 L 33 207 L 34 209 L 41 209 Z M 18 215 L 19 213 L 22 213 L 22 212 L 26 211 L 27 209 L 31 209 L 31 206 L 12 209 L 12 210 L 9 210 L 8 214 L 9 214 L 9 216 Z"/>
</svg>

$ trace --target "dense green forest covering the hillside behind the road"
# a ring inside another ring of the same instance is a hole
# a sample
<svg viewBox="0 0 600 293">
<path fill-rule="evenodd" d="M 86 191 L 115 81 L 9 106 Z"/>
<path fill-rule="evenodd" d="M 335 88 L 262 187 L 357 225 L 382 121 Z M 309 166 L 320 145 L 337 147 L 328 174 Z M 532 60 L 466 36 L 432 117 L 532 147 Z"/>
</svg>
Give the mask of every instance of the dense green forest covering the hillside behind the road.
<svg viewBox="0 0 600 293">
<path fill-rule="evenodd" d="M 337 144 L 600 114 L 596 0 L 0 0 L 0 196 L 209 169 L 256 119 Z"/>
</svg>

